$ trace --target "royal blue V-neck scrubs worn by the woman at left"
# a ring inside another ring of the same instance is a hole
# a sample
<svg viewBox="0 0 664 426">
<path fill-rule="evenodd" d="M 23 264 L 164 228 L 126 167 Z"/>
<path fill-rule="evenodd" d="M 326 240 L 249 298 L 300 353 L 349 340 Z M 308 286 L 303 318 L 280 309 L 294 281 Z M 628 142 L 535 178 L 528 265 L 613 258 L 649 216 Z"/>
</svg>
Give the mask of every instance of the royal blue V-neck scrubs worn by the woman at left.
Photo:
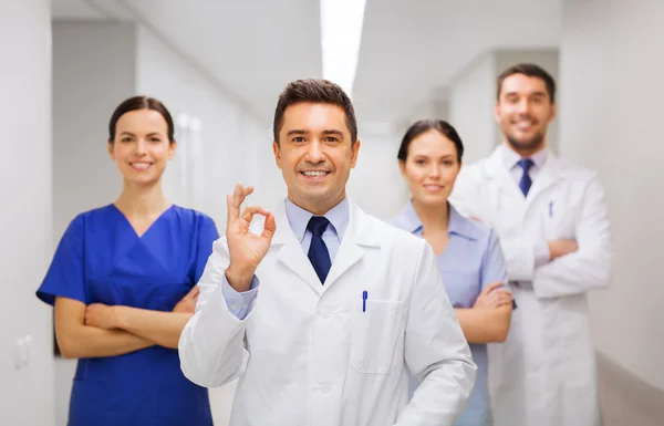
<svg viewBox="0 0 664 426">
<path fill-rule="evenodd" d="M 62 237 L 37 291 L 85 304 L 172 311 L 198 282 L 219 237 L 212 219 L 172 206 L 138 237 L 114 206 L 79 215 Z M 152 346 L 81 359 L 70 426 L 212 425 L 207 389 L 181 373 L 177 350 Z"/>
</svg>

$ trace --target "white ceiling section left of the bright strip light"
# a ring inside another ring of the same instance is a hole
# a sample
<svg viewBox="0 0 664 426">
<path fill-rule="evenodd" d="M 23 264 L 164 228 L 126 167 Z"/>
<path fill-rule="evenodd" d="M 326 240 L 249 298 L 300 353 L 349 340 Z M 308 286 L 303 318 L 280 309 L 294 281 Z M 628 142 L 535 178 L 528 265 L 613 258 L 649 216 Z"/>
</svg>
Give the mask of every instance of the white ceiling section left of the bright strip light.
<svg viewBox="0 0 664 426">
<path fill-rule="evenodd" d="M 322 75 L 318 0 L 52 1 L 56 19 L 146 23 L 263 121 L 289 81 Z"/>
</svg>

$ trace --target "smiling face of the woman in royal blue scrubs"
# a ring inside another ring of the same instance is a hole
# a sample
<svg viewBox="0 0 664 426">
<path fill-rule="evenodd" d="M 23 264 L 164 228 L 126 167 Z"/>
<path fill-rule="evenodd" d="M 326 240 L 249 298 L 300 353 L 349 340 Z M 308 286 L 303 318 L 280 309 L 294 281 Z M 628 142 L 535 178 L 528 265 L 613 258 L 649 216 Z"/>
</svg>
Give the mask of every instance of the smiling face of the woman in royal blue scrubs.
<svg viewBox="0 0 664 426">
<path fill-rule="evenodd" d="M 147 108 L 123 114 L 115 125 L 115 138 L 108 142 L 108 154 L 125 183 L 142 186 L 159 181 L 175 148 L 164 116 Z"/>
</svg>

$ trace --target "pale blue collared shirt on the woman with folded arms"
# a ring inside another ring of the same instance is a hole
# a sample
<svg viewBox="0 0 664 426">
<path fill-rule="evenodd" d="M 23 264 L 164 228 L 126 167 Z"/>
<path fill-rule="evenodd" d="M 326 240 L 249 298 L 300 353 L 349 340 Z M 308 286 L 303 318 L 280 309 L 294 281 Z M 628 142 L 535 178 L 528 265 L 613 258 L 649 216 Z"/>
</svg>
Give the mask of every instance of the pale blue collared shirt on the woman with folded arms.
<svg viewBox="0 0 664 426">
<path fill-rule="evenodd" d="M 408 201 L 402 214 L 392 219 L 391 224 L 416 236 L 423 236 L 422 221 L 412 201 Z M 496 281 L 507 283 L 505 258 L 498 237 L 490 228 L 463 217 L 452 205 L 448 236 L 449 241 L 438 257 L 438 270 L 453 306 L 473 308 L 487 284 Z M 473 360 L 477 364 L 477 378 L 466 408 L 455 426 L 490 426 L 492 422 L 487 384 L 487 345 L 469 346 Z M 417 385 L 417 380 L 413 377 L 411 394 Z"/>
</svg>

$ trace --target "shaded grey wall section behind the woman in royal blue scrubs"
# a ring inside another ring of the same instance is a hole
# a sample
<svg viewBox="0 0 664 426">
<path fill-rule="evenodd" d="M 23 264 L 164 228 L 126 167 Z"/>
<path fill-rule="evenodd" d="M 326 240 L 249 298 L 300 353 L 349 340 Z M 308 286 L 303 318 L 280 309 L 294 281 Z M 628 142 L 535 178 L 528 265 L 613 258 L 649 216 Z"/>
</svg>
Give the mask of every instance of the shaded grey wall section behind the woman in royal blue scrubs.
<svg viewBox="0 0 664 426">
<path fill-rule="evenodd" d="M 122 178 L 106 150 L 113 110 L 135 91 L 136 31 L 53 23 L 53 250 L 81 211 L 113 202 Z M 55 418 L 66 424 L 76 362 L 55 361 Z"/>
</svg>

